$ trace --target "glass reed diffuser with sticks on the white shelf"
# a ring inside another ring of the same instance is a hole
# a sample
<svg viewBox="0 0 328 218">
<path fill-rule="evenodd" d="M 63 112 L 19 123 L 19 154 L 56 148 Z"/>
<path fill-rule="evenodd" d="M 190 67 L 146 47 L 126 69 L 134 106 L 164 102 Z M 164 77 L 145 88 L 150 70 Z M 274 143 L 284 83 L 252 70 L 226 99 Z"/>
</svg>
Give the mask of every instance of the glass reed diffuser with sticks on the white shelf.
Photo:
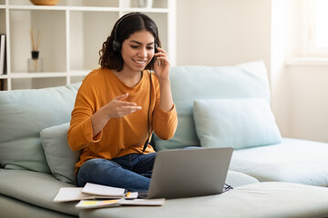
<svg viewBox="0 0 328 218">
<path fill-rule="evenodd" d="M 40 31 L 37 32 L 36 42 L 33 30 L 31 29 L 31 42 L 32 42 L 32 58 L 27 59 L 27 72 L 28 73 L 41 73 L 43 72 L 43 59 L 39 58 L 39 46 L 41 43 Z"/>
</svg>

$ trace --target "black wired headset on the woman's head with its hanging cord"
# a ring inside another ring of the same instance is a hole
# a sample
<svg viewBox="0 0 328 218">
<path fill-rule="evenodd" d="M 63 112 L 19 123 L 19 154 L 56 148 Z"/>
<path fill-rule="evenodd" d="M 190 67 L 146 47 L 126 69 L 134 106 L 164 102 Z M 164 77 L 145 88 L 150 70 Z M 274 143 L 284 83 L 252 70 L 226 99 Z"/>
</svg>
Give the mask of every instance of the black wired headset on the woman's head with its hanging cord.
<svg viewBox="0 0 328 218">
<path fill-rule="evenodd" d="M 124 15 L 120 18 L 120 20 L 118 20 L 118 23 L 115 25 L 115 28 L 114 28 L 114 40 L 113 40 L 113 51 L 114 52 L 120 52 L 121 51 L 121 44 L 118 42 L 118 26 L 119 24 L 124 20 L 126 19 L 128 16 L 130 15 L 140 15 L 140 13 L 131 13 L 131 14 L 128 14 L 128 15 Z M 155 42 L 157 40 L 155 39 Z M 158 47 L 159 45 L 157 43 L 154 44 L 154 49 L 155 49 L 155 53 L 159 53 L 158 51 Z M 153 64 L 156 62 L 156 58 L 153 57 L 152 61 L 151 61 Z M 142 153 L 143 154 L 149 144 L 149 138 L 150 138 L 150 124 L 149 124 L 149 114 L 150 114 L 150 104 L 151 104 L 151 72 L 149 74 L 149 81 L 150 81 L 150 85 L 149 85 L 149 111 L 148 111 L 148 138 L 143 146 L 143 149 L 142 149 Z M 145 165 L 146 166 L 146 165 Z M 146 166 L 147 167 L 147 166 Z"/>
</svg>

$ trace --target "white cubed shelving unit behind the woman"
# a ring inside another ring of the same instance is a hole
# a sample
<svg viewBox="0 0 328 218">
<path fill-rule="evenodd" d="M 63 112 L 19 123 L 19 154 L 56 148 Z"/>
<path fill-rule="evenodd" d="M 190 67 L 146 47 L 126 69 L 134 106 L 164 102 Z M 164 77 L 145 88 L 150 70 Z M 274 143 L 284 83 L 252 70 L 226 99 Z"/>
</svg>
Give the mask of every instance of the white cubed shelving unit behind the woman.
<svg viewBox="0 0 328 218">
<path fill-rule="evenodd" d="M 0 0 L 0 34 L 6 35 L 5 90 L 43 88 L 79 82 L 97 68 L 98 51 L 115 22 L 129 12 L 149 15 L 159 26 L 162 47 L 176 60 L 176 0 L 60 0 L 54 6 L 32 5 L 29 0 Z M 30 29 L 40 30 L 43 73 L 27 73 L 31 57 Z"/>
</svg>

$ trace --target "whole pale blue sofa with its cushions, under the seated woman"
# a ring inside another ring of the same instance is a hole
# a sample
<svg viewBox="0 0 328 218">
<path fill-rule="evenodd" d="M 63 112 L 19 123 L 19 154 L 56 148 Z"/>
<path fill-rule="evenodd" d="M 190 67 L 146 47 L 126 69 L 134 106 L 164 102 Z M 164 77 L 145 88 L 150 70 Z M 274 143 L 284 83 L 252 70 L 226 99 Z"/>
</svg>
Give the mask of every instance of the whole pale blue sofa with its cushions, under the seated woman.
<svg viewBox="0 0 328 218">
<path fill-rule="evenodd" d="M 270 108 L 265 65 L 173 66 L 178 129 L 156 150 L 234 147 L 221 194 L 163 206 L 77 210 L 53 203 L 74 187 L 79 152 L 67 145 L 80 84 L 0 92 L 0 217 L 327 217 L 328 144 L 283 138 Z"/>
</svg>

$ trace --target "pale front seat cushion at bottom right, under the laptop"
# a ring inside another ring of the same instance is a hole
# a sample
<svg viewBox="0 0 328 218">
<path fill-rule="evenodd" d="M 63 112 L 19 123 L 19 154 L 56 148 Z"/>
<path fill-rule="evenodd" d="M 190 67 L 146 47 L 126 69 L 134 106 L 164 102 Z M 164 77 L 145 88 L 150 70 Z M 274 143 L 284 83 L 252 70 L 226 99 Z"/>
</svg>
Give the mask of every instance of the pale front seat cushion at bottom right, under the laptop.
<svg viewBox="0 0 328 218">
<path fill-rule="evenodd" d="M 226 193 L 169 199 L 159 207 L 83 210 L 81 218 L 327 217 L 328 189 L 297 183 L 251 183 Z"/>
</svg>

